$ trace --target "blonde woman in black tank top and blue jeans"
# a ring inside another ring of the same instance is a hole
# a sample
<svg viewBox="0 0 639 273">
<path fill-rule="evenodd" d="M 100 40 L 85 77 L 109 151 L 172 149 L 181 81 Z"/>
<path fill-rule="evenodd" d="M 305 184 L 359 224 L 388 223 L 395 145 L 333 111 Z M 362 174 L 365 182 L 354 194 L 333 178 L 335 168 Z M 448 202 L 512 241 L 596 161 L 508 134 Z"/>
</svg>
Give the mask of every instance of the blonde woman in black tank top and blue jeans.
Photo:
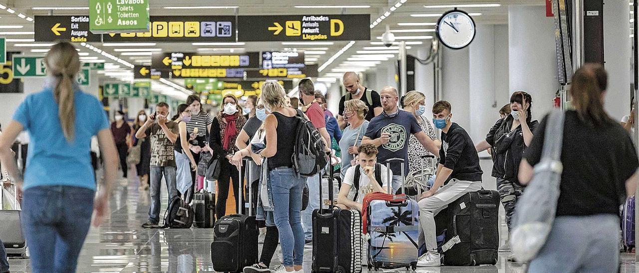
<svg viewBox="0 0 639 273">
<path fill-rule="evenodd" d="M 304 272 L 304 231 L 300 211 L 306 180 L 295 173 L 291 161 L 297 112 L 286 107 L 286 93 L 277 82 L 266 82 L 261 90 L 261 99 L 272 114 L 267 115 L 264 121 L 266 147 L 259 155 L 267 158 L 266 184 L 273 202 L 273 216 L 284 258 L 284 267 L 276 272 Z"/>
</svg>

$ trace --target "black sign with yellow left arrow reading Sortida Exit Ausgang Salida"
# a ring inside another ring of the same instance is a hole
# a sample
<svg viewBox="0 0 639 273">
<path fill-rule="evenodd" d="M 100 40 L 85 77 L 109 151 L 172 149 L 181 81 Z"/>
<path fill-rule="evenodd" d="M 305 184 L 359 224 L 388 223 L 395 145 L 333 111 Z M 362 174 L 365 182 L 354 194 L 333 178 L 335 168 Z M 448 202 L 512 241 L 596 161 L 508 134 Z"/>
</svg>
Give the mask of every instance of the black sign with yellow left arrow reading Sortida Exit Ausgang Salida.
<svg viewBox="0 0 639 273">
<path fill-rule="evenodd" d="M 102 41 L 102 35 L 89 31 L 88 16 L 36 16 L 36 41 Z"/>
</svg>

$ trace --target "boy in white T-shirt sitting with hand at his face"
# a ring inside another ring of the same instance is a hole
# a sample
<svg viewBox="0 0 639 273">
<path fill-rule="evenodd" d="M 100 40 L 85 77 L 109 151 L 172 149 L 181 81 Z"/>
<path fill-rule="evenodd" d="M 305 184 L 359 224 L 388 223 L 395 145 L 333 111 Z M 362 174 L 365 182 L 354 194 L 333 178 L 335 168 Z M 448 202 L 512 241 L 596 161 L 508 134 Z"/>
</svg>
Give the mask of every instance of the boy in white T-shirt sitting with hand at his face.
<svg viewBox="0 0 639 273">
<path fill-rule="evenodd" d="M 393 173 L 386 166 L 377 163 L 377 147 L 364 144 L 358 150 L 359 165 L 346 170 L 342 188 L 337 196 L 337 206 L 342 209 L 357 209 L 362 212 L 362 200 L 367 193 L 386 193 Z"/>
</svg>

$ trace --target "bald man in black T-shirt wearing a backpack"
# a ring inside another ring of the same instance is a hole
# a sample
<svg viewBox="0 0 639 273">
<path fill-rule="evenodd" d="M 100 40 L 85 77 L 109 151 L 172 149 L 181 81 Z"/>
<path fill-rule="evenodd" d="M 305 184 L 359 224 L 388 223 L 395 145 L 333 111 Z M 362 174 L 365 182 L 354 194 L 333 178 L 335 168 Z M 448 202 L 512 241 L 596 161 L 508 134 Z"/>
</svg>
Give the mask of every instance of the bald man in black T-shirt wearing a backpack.
<svg viewBox="0 0 639 273">
<path fill-rule="evenodd" d="M 342 84 L 346 87 L 346 94 L 339 100 L 339 111 L 337 112 L 337 124 L 340 129 L 346 128 L 348 122 L 344 119 L 344 101 L 348 100 L 362 100 L 364 104 L 369 108 L 369 112 L 366 113 L 367 121 L 371 121 L 373 117 L 381 114 L 383 108 L 381 107 L 380 94 L 374 90 L 364 87 L 360 84 L 359 76 L 355 72 L 346 72 L 342 78 Z"/>
</svg>

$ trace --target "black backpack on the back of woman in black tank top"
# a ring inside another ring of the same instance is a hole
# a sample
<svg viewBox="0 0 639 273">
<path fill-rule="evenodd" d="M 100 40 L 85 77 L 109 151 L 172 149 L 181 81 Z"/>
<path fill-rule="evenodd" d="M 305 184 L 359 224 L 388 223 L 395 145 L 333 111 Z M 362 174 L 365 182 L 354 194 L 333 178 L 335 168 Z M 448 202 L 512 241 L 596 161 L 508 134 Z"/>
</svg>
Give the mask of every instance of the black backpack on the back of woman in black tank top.
<svg viewBox="0 0 639 273">
<path fill-rule="evenodd" d="M 297 110 L 295 147 L 293 147 L 293 168 L 298 175 L 312 177 L 328 163 L 324 139 L 304 113 Z"/>
</svg>

